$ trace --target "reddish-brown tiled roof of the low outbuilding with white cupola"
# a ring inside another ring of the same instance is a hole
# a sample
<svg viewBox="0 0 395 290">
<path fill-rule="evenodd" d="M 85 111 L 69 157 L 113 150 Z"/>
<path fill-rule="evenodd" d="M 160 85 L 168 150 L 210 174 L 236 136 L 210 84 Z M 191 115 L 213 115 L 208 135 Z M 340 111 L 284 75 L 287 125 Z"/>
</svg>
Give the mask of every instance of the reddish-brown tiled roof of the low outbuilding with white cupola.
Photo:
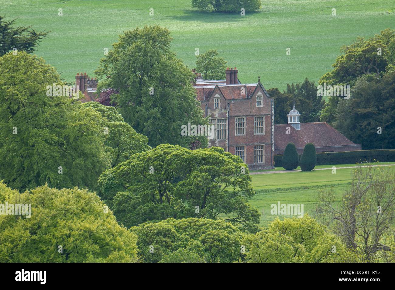
<svg viewBox="0 0 395 290">
<path fill-rule="evenodd" d="M 290 127 L 291 134 L 286 134 L 286 127 Z M 355 145 L 326 122 L 301 123 L 300 130 L 291 124 L 274 125 L 273 137 L 275 149 L 285 149 L 290 142 L 296 148 L 304 148 L 307 143 L 313 143 L 315 147 Z"/>
</svg>

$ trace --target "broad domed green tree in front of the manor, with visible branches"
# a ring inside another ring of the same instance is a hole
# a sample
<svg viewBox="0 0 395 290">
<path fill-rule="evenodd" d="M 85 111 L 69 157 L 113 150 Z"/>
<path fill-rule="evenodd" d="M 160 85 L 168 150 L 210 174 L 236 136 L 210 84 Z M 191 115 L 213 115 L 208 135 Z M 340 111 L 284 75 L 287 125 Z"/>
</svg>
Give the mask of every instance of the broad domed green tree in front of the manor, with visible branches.
<svg viewBox="0 0 395 290">
<path fill-rule="evenodd" d="M 166 218 L 217 218 L 258 230 L 259 212 L 243 161 L 222 148 L 188 150 L 169 144 L 135 154 L 105 171 L 98 194 L 127 227 Z"/>
</svg>

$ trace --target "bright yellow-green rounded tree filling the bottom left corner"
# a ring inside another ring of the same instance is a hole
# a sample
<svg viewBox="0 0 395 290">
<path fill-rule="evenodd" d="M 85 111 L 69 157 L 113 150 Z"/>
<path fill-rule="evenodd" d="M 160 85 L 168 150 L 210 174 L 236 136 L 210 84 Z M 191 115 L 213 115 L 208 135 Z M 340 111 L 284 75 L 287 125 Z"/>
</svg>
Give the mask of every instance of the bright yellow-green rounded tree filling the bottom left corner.
<svg viewBox="0 0 395 290">
<path fill-rule="evenodd" d="M 6 202 L 30 204 L 31 217 L 0 215 L 0 262 L 137 262 L 137 237 L 93 192 L 45 185 L 20 194 L 0 183 Z"/>
</svg>

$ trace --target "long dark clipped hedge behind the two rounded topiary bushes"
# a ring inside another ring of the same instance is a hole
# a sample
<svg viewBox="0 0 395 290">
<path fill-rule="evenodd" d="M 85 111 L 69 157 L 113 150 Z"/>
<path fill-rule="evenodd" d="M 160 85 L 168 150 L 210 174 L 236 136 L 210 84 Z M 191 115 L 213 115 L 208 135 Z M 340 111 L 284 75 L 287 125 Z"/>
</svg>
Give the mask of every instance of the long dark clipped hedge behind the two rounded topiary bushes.
<svg viewBox="0 0 395 290">
<path fill-rule="evenodd" d="M 317 153 L 316 165 L 353 164 L 362 162 L 395 162 L 395 149 L 392 150 L 359 150 L 346 152 Z M 300 161 L 301 154 L 299 154 Z M 275 155 L 276 167 L 281 167 L 282 155 Z"/>
</svg>

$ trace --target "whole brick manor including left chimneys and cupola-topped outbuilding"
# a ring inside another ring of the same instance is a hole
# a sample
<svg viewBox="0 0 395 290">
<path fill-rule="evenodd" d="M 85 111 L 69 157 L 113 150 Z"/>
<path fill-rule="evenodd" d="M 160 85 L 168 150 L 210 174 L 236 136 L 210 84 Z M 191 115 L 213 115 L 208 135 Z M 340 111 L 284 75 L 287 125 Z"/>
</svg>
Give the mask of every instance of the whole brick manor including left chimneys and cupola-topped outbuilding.
<svg viewBox="0 0 395 290">
<path fill-rule="evenodd" d="M 196 75 L 196 98 L 215 129 L 209 147 L 222 147 L 240 156 L 249 169 L 273 168 L 273 154 L 284 153 L 289 142 L 295 144 L 299 154 L 307 143 L 313 143 L 317 153 L 361 150 L 361 144 L 353 143 L 325 122 L 300 123 L 303 116 L 295 106 L 287 114 L 288 124 L 275 125 L 274 100 L 259 77 L 258 83 L 241 84 L 236 68 L 227 68 L 223 80 L 202 79 L 201 73 L 192 71 Z M 81 102 L 97 102 L 96 78 L 77 73 L 75 83 L 83 93 Z"/>
</svg>

